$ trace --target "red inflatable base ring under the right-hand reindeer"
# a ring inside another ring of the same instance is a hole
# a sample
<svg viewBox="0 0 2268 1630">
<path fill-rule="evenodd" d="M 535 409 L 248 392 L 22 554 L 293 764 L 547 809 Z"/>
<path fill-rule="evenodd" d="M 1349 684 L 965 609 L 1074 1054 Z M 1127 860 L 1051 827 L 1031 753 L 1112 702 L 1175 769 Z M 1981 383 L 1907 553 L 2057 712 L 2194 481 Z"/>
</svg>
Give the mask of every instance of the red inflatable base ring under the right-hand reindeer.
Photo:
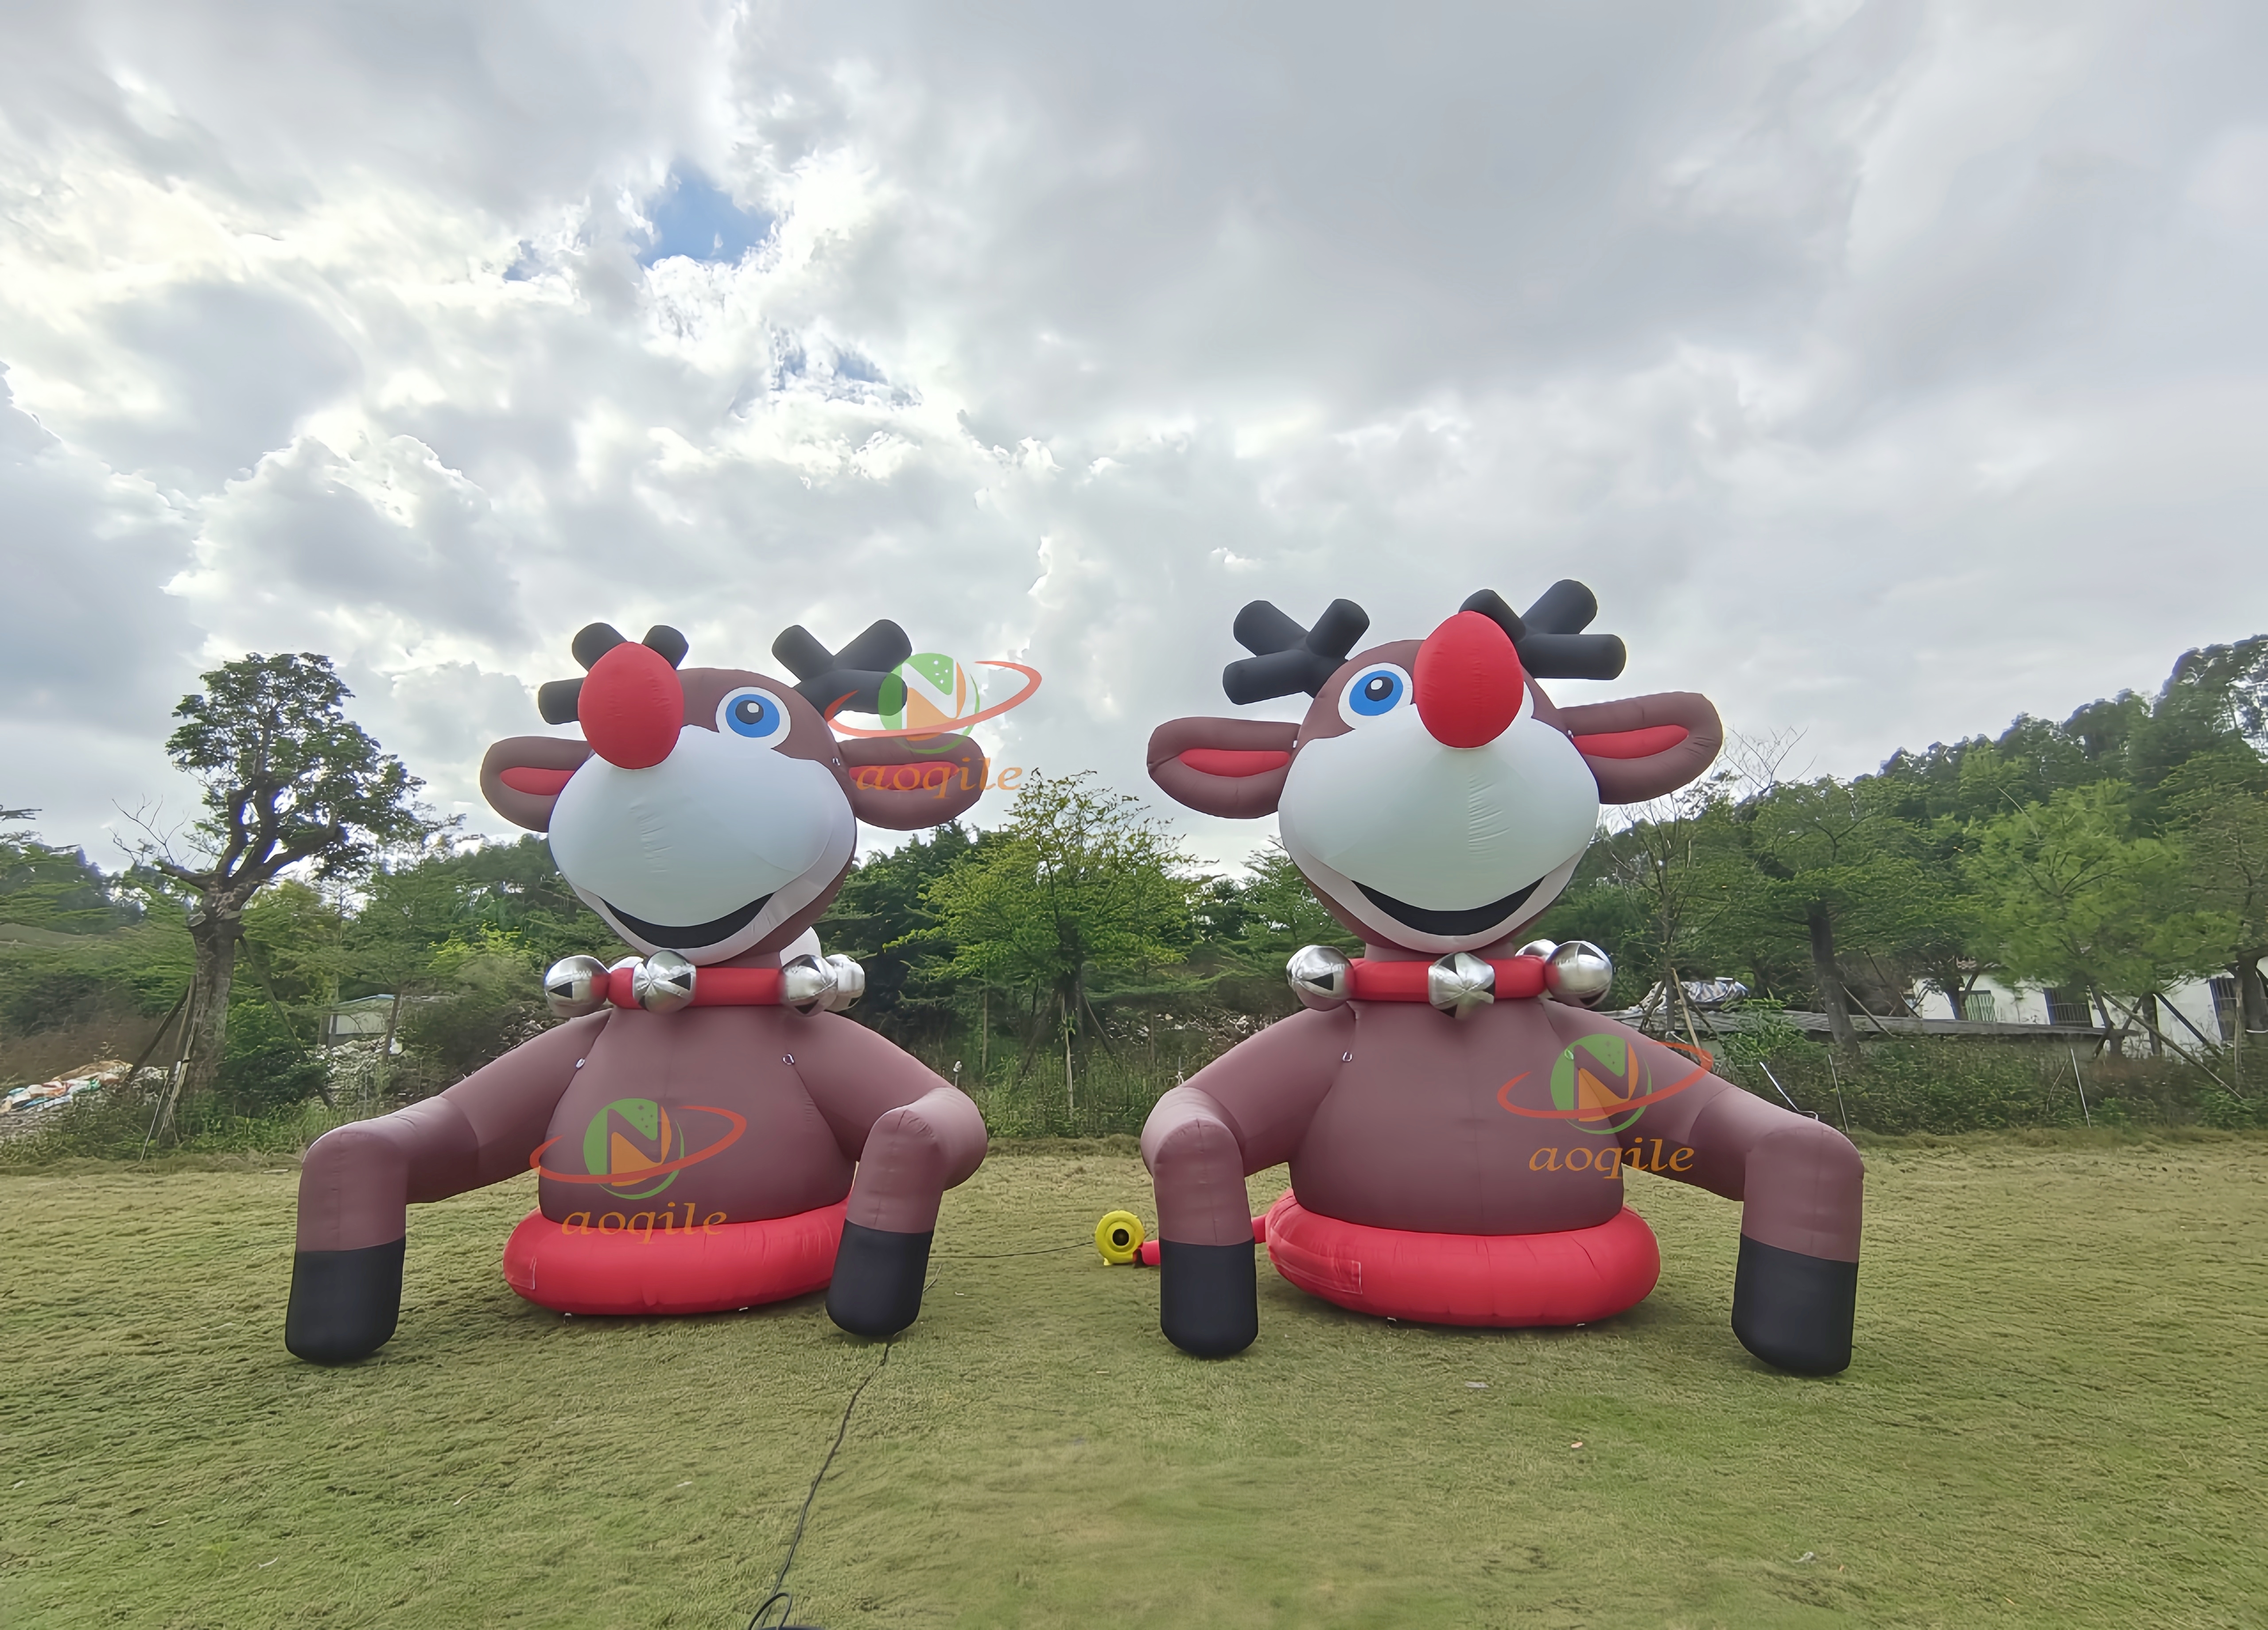
<svg viewBox="0 0 2268 1630">
<path fill-rule="evenodd" d="M 1266 1224 L 1268 1260 L 1300 1290 L 1417 1324 L 1590 1324 L 1662 1276 L 1653 1229 L 1631 1208 L 1565 1233 L 1408 1233 L 1322 1217 L 1286 1192 Z"/>
</svg>

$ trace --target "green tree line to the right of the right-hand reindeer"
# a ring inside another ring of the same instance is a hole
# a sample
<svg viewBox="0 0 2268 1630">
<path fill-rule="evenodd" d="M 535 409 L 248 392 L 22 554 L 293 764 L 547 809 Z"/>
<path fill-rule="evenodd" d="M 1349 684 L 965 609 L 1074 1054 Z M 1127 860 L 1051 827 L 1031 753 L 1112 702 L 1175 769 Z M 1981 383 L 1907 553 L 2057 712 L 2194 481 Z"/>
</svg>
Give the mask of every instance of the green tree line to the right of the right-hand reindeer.
<svg viewBox="0 0 2268 1630">
<path fill-rule="evenodd" d="M 1615 945 L 1624 984 L 1737 975 L 1812 1007 L 1837 1045 L 1923 991 L 2077 993 L 2107 1029 L 2193 1050 L 2164 993 L 2227 977 L 2268 1027 L 2268 637 L 2186 653 L 2155 696 L 1894 753 L 1873 775 L 1783 778 L 1735 741 L 1699 787 L 1603 832 L 1545 918 Z"/>
</svg>

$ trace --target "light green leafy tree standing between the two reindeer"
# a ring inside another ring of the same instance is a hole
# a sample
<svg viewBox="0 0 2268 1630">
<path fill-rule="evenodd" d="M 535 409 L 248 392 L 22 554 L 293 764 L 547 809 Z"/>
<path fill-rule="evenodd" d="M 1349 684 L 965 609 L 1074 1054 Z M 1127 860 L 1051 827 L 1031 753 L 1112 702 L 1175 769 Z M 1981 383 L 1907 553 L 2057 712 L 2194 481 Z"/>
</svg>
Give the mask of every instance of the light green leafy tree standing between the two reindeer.
<svg viewBox="0 0 2268 1630">
<path fill-rule="evenodd" d="M 1025 1061 L 1050 1016 L 1066 1047 L 1082 1016 L 1100 1032 L 1093 975 L 1182 961 L 1191 939 L 1179 846 L 1141 800 L 1093 787 L 1091 771 L 1034 773 L 1007 825 L 923 900 L 937 927 L 912 941 L 950 945 L 953 975 L 1030 1000 Z"/>
</svg>

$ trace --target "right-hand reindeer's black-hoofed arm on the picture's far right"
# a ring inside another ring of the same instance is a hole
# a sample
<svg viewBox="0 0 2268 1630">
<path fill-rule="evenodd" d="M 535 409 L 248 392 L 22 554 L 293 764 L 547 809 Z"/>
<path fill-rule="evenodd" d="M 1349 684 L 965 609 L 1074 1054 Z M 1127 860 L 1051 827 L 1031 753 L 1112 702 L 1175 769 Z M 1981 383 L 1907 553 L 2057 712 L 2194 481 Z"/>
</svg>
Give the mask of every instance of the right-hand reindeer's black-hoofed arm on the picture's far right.
<svg viewBox="0 0 2268 1630">
<path fill-rule="evenodd" d="M 1633 1041 L 1653 1090 L 1701 1075 L 1622 1131 L 1626 1163 L 1740 1202 L 1733 1333 L 1742 1347 L 1799 1374 L 1848 1367 L 1867 1179 L 1851 1140 L 1610 1020 L 1556 1007 L 1554 1025 L 1567 1041 L 1585 1032 Z"/>
</svg>

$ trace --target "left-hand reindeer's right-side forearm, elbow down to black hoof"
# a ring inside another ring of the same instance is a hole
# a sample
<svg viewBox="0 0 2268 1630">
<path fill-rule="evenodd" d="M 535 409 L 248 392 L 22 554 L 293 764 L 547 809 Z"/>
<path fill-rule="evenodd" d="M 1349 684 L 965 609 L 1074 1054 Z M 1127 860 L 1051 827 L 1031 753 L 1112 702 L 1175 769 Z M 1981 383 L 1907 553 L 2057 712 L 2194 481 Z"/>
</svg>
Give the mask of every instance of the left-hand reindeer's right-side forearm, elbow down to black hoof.
<svg viewBox="0 0 2268 1630">
<path fill-rule="evenodd" d="M 828 1281 L 828 1317 L 853 1335 L 896 1335 L 921 1315 L 937 1206 L 984 1163 L 984 1118 L 934 1086 L 873 1122 Z"/>
</svg>

